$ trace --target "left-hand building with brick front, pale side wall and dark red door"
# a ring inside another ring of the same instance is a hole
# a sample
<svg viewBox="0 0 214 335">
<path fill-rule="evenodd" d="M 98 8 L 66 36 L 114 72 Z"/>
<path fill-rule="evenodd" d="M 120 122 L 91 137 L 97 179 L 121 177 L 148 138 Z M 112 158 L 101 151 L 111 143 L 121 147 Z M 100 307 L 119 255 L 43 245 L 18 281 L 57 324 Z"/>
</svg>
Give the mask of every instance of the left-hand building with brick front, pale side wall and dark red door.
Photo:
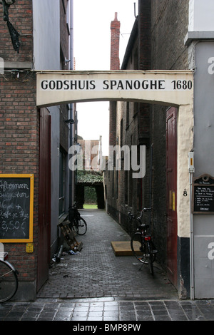
<svg viewBox="0 0 214 335">
<path fill-rule="evenodd" d="M 14 50 L 2 10 L 0 16 L 0 57 L 4 64 L 0 74 L 0 177 L 34 175 L 33 250 L 28 252 L 23 242 L 4 242 L 9 261 L 19 271 L 16 299 L 25 301 L 35 299 L 58 247 L 59 153 L 66 160 L 69 145 L 69 125 L 64 122 L 70 117 L 68 106 L 36 107 L 35 70 L 67 68 L 65 59 L 69 56 L 70 1 L 51 3 L 26 0 L 9 6 L 9 21 L 19 33 L 19 52 Z M 49 26 L 43 16 L 49 19 Z M 68 180 L 68 173 L 63 177 Z M 65 192 L 63 197 L 65 211 Z M 1 211 L 1 239 L 2 220 Z"/>
</svg>

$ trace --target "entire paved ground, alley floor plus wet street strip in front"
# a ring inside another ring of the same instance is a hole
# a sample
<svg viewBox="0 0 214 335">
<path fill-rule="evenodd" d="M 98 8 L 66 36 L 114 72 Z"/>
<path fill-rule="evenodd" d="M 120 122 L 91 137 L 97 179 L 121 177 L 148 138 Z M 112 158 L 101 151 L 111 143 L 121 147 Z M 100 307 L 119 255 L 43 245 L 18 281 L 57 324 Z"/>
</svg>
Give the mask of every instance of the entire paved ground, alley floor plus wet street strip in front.
<svg viewBox="0 0 214 335">
<path fill-rule="evenodd" d="M 130 237 L 105 211 L 81 215 L 88 224 L 86 235 L 77 237 L 81 252 L 51 267 L 36 301 L 0 304 L 0 321 L 214 320 L 213 300 L 180 300 L 160 267 L 152 277 L 147 267 L 139 271 L 134 257 L 116 257 L 111 241 Z"/>
</svg>

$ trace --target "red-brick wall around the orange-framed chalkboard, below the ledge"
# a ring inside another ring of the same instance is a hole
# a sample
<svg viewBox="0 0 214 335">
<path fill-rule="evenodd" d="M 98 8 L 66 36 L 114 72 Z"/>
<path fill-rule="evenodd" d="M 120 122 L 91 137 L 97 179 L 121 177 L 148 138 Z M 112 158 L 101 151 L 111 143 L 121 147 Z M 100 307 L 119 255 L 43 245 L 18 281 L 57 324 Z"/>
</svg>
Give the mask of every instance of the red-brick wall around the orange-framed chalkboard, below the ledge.
<svg viewBox="0 0 214 335">
<path fill-rule="evenodd" d="M 0 173 L 34 174 L 34 213 L 39 197 L 39 114 L 36 110 L 35 76 L 11 73 L 0 76 Z M 37 209 L 37 210 L 36 210 Z M 34 237 L 38 217 L 34 215 Z M 37 241 L 34 239 L 34 248 Z M 26 254 L 26 244 L 4 244 L 9 259 L 19 269 L 20 280 L 35 279 L 36 253 Z M 27 258 L 27 261 L 24 259 Z"/>
</svg>

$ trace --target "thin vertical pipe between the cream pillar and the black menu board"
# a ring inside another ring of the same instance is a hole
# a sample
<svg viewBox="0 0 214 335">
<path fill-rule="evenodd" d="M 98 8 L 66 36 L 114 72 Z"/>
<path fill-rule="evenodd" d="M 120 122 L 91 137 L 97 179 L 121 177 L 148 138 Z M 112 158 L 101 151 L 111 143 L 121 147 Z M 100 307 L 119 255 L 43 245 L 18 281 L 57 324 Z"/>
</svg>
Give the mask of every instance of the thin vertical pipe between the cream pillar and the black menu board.
<svg viewBox="0 0 214 335">
<path fill-rule="evenodd" d="M 193 211 L 192 211 L 192 199 L 193 199 L 193 172 L 194 168 L 194 152 L 190 151 L 189 160 L 189 183 L 190 183 L 190 299 L 195 299 L 195 285 L 194 285 L 194 236 L 193 236 Z"/>
</svg>

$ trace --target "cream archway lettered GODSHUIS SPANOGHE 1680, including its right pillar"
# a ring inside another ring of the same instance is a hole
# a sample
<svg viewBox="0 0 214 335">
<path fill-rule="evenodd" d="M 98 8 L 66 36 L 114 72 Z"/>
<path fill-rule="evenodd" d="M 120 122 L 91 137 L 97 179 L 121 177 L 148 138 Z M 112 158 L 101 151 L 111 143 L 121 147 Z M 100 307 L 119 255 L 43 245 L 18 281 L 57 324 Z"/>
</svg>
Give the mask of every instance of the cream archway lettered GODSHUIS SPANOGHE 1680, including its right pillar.
<svg viewBox="0 0 214 335">
<path fill-rule="evenodd" d="M 190 237 L 188 153 L 193 149 L 192 71 L 44 71 L 37 73 L 39 108 L 60 103 L 133 101 L 178 108 L 177 233 Z M 187 214 L 188 213 L 188 214 Z"/>
</svg>

